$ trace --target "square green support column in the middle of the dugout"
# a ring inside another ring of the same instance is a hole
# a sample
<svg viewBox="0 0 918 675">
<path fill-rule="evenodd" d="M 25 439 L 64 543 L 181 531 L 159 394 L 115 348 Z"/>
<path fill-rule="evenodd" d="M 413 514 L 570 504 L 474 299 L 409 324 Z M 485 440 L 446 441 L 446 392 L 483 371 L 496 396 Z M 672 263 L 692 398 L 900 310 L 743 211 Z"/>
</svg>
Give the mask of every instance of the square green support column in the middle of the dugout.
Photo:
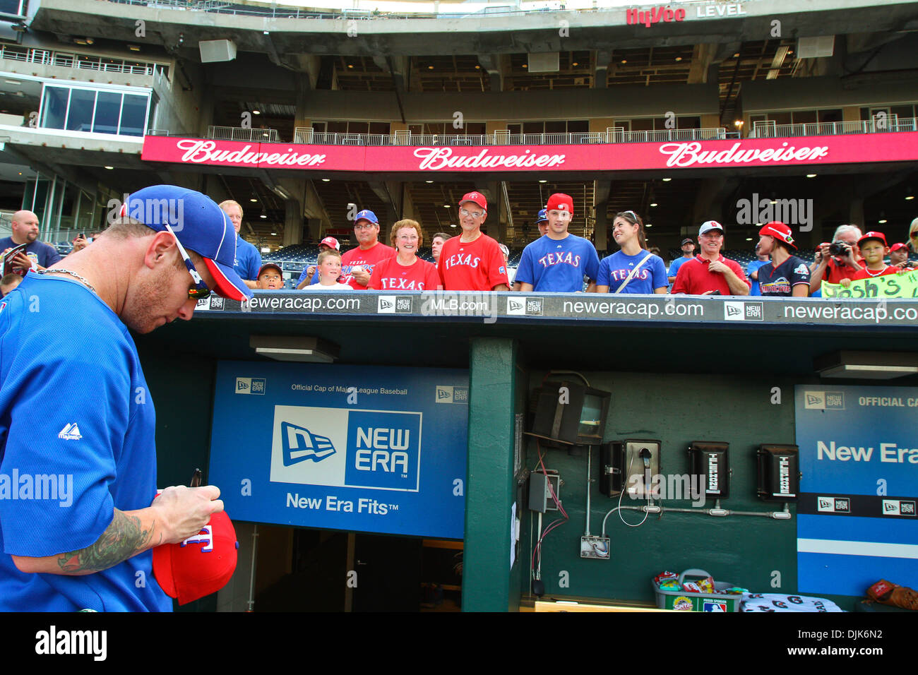
<svg viewBox="0 0 918 675">
<path fill-rule="evenodd" d="M 520 608 L 521 569 L 510 567 L 514 395 L 517 343 L 475 338 L 469 349 L 468 473 L 465 478 L 463 611 L 507 612 Z M 516 505 L 519 517 L 523 504 Z M 526 555 L 521 557 L 525 558 Z"/>
</svg>

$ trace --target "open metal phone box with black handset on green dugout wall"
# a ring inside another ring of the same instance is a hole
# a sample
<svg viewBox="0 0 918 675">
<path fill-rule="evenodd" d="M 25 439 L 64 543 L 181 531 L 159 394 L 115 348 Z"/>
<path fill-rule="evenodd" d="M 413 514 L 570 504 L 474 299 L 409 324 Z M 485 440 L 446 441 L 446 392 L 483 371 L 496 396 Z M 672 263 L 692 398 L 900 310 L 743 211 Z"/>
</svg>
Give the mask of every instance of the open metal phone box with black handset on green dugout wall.
<svg viewBox="0 0 918 675">
<path fill-rule="evenodd" d="M 659 475 L 659 441 L 627 439 L 599 448 L 599 491 L 608 497 L 618 497 L 626 489 L 632 499 L 647 499 Z"/>
</svg>

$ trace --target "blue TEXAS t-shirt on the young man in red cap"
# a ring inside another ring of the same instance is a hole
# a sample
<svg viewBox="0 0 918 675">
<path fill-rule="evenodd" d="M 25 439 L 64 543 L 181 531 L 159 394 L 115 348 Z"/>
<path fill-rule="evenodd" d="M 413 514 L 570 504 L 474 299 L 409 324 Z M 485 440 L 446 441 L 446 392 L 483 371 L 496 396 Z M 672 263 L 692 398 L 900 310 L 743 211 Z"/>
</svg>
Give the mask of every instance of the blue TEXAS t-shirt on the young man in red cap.
<svg viewBox="0 0 918 675">
<path fill-rule="evenodd" d="M 575 234 L 551 239 L 547 234 L 523 249 L 517 267 L 517 283 L 532 284 L 532 290 L 573 293 L 583 290 L 583 278 L 596 280 L 599 254 L 592 243 Z"/>
</svg>

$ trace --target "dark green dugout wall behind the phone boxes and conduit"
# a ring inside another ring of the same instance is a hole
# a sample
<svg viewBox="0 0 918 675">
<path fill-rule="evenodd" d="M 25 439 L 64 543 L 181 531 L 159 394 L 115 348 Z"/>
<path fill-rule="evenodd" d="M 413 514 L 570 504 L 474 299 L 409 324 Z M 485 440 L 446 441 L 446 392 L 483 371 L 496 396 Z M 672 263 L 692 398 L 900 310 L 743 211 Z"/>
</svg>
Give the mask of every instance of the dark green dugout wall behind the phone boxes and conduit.
<svg viewBox="0 0 918 675">
<path fill-rule="evenodd" d="M 716 359 L 717 354 L 700 358 Z M 711 366 L 715 370 L 716 366 Z M 543 372 L 533 373 L 532 388 Z M 755 450 L 762 443 L 794 443 L 793 385 L 800 380 L 781 377 L 722 377 L 689 375 L 617 375 L 584 373 L 590 386 L 612 392 L 605 440 L 626 438 L 662 441 L 661 473 L 688 474 L 687 448 L 692 441 L 730 444 L 733 469 L 731 496 L 722 507 L 738 511 L 777 511 L 780 504 L 756 498 Z M 771 388 L 781 388 L 782 402 L 773 405 Z M 528 467 L 537 465 L 535 445 L 528 446 Z M 592 478 L 599 478 L 599 448 L 593 450 Z M 543 543 L 542 579 L 546 597 L 584 596 L 653 602 L 650 579 L 663 570 L 679 572 L 702 568 L 715 580 L 730 581 L 751 591 L 797 590 L 796 520 L 763 517 L 712 517 L 695 513 L 649 514 L 640 527 L 627 527 L 618 512 L 609 517 L 610 560 L 579 557 L 580 536 L 586 523 L 587 455 L 569 456 L 548 450 L 545 467 L 558 469 L 564 484 L 561 500 L 570 521 L 548 534 Z M 590 532 L 599 534 L 606 512 L 618 504 L 591 484 Z M 624 497 L 622 504 L 631 502 Z M 664 501 L 689 507 L 689 501 Z M 713 501 L 708 502 L 713 506 Z M 794 507 L 791 505 L 791 512 Z M 556 512 L 543 517 L 547 525 Z M 623 512 L 629 523 L 640 523 L 641 512 Z M 547 519 L 546 519 L 547 518 Z M 531 550 L 535 518 L 524 518 L 525 546 Z M 564 574 L 566 572 L 566 575 Z M 780 575 L 780 588 L 772 586 Z M 569 585 L 560 584 L 567 579 Z M 523 577 L 521 590 L 528 594 Z"/>
</svg>

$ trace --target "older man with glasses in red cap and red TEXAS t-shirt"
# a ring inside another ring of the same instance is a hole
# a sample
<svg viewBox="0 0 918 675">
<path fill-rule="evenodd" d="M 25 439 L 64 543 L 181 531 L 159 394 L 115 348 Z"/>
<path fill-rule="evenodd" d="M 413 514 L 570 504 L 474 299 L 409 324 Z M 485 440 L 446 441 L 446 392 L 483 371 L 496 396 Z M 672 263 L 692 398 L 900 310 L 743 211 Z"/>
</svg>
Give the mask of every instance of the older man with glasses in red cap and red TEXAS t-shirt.
<svg viewBox="0 0 918 675">
<path fill-rule="evenodd" d="M 507 263 L 498 242 L 481 231 L 487 199 L 470 192 L 459 200 L 462 234 L 443 243 L 440 279 L 444 290 L 509 290 Z"/>
</svg>

